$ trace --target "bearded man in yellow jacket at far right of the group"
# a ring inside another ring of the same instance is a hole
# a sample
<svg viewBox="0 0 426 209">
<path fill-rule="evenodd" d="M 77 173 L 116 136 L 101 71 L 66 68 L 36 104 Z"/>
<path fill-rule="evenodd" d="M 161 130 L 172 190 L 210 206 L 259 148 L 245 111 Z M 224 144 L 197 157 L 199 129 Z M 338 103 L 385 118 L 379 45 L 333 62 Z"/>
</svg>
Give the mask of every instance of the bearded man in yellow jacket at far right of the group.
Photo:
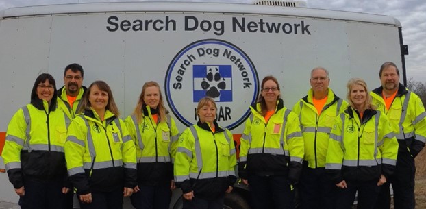
<svg viewBox="0 0 426 209">
<path fill-rule="evenodd" d="M 373 105 L 384 112 L 396 134 L 399 149 L 394 174 L 386 176 L 381 186 L 376 207 L 390 208 L 389 186 L 394 190 L 394 208 L 414 209 L 414 158 L 423 149 L 426 141 L 426 113 L 421 99 L 399 83 L 399 70 L 392 62 L 385 62 L 379 71 L 381 86 L 373 90 Z"/>
</svg>

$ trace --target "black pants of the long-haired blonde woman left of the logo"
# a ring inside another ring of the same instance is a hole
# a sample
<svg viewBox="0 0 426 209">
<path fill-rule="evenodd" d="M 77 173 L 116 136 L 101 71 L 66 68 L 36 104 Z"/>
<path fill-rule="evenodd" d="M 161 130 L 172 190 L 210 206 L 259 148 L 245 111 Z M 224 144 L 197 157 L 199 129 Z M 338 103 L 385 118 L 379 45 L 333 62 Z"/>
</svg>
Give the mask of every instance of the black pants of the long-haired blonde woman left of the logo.
<svg viewBox="0 0 426 209">
<path fill-rule="evenodd" d="M 130 196 L 136 209 L 168 209 L 171 200 L 170 185 L 142 186 L 140 191 Z"/>
</svg>

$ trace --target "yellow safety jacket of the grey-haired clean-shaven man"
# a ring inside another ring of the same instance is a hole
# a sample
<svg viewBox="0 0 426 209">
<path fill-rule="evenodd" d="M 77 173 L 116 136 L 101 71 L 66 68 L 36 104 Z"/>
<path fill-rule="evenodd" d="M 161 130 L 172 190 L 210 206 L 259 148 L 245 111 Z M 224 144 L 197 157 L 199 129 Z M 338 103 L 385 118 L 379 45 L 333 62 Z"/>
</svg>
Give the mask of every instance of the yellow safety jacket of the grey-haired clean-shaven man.
<svg viewBox="0 0 426 209">
<path fill-rule="evenodd" d="M 325 106 L 318 114 L 312 101 L 312 88 L 308 95 L 300 99 L 293 107 L 293 112 L 299 115 L 303 140 L 305 140 L 305 156 L 308 167 L 316 169 L 325 167 L 329 134 L 334 125 L 334 119 L 347 107 L 347 102 L 339 98 L 329 88 Z"/>
</svg>

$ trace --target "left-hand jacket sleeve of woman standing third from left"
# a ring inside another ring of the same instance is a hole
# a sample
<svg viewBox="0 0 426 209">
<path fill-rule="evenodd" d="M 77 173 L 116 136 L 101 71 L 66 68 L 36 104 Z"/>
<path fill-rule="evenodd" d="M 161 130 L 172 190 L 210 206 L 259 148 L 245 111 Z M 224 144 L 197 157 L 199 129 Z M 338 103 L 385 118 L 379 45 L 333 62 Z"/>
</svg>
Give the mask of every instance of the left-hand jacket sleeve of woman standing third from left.
<svg viewBox="0 0 426 209">
<path fill-rule="evenodd" d="M 86 153 L 87 127 L 83 119 L 77 117 L 71 121 L 64 146 L 66 169 L 69 180 L 77 188 L 77 194 L 90 193 L 90 184 L 84 171 L 83 157 Z M 95 160 L 95 159 L 92 159 Z"/>
</svg>

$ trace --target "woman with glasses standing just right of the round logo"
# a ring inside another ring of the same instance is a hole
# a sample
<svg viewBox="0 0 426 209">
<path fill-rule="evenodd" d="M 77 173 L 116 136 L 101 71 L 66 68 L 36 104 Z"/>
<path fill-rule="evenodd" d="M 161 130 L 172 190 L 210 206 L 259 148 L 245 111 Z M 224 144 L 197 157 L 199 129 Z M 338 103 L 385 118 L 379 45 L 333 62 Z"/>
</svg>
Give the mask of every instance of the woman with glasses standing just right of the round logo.
<svg viewBox="0 0 426 209">
<path fill-rule="evenodd" d="M 303 138 L 297 115 L 284 107 L 275 77 L 264 77 L 258 103 L 250 110 L 240 138 L 238 175 L 249 185 L 253 208 L 294 208 Z"/>
</svg>

